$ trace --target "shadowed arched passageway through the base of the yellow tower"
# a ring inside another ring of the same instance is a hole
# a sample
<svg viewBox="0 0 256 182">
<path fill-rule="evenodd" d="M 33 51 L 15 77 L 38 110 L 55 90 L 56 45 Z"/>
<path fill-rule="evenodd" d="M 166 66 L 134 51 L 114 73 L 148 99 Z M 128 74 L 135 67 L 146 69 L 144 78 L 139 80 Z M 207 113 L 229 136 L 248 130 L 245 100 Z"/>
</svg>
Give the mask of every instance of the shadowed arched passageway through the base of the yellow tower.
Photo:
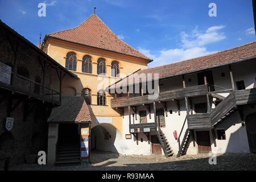
<svg viewBox="0 0 256 182">
<path fill-rule="evenodd" d="M 118 153 L 115 143 L 121 137 L 117 129 L 107 123 L 101 123 L 91 129 L 91 150 L 100 150 Z"/>
</svg>

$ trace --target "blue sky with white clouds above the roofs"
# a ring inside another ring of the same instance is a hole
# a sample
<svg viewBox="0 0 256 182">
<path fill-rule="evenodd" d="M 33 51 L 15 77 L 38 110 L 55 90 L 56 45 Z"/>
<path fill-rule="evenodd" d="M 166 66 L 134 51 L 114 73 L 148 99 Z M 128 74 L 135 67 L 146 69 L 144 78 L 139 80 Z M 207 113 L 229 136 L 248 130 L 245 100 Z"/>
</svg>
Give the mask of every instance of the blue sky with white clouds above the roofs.
<svg viewBox="0 0 256 182">
<path fill-rule="evenodd" d="M 38 16 L 45 2 L 46 17 Z M 210 17 L 209 3 L 217 5 Z M 96 14 L 126 43 L 154 61 L 149 67 L 240 46 L 255 40 L 251 0 L 0 0 L 0 19 L 34 44 L 39 34 L 78 26 Z"/>
</svg>

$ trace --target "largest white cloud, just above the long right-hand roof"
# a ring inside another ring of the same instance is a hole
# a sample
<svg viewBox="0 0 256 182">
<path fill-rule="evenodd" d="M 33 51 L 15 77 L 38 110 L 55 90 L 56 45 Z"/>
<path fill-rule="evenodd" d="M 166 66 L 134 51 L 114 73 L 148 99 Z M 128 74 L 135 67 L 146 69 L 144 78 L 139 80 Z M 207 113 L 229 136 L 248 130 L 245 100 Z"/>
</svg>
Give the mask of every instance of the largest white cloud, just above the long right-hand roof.
<svg viewBox="0 0 256 182">
<path fill-rule="evenodd" d="M 154 59 L 150 66 L 170 64 L 176 61 L 209 55 L 210 53 L 215 53 L 217 51 L 208 51 L 205 46 L 220 42 L 226 38 L 224 32 L 218 32 L 222 28 L 224 28 L 224 26 L 213 26 L 204 32 L 198 31 L 197 28 L 189 34 L 181 32 L 181 48 L 164 49 L 156 54 L 143 48 L 139 48 L 139 51 L 151 59 Z"/>
</svg>

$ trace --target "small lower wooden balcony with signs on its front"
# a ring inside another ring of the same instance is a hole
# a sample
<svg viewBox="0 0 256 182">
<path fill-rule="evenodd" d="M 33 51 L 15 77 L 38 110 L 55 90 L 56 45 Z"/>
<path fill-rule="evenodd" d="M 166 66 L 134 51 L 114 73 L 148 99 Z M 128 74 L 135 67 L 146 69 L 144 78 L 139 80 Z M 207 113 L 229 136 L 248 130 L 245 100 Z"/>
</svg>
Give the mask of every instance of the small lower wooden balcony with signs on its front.
<svg viewBox="0 0 256 182">
<path fill-rule="evenodd" d="M 139 123 L 139 124 L 131 124 L 130 133 L 149 133 L 151 131 L 156 131 L 155 123 Z"/>
</svg>

